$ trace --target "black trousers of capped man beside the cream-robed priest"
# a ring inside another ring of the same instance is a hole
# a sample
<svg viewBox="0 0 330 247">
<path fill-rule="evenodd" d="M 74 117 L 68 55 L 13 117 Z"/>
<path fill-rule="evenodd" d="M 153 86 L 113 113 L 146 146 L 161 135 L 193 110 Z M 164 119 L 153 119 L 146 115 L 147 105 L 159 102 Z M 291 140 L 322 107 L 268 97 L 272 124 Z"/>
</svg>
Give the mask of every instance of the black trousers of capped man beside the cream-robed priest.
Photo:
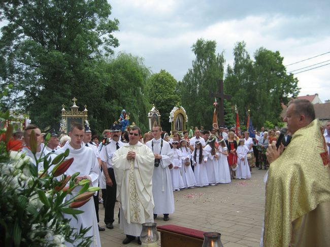
<svg viewBox="0 0 330 247">
<path fill-rule="evenodd" d="M 107 193 L 106 193 L 106 208 L 105 208 L 105 216 L 104 222 L 106 224 L 113 223 L 114 220 L 114 210 L 116 204 L 116 193 L 117 193 L 117 184 L 115 179 L 115 173 L 113 168 L 108 168 L 109 177 L 112 180 L 113 185 L 107 185 Z"/>
</svg>

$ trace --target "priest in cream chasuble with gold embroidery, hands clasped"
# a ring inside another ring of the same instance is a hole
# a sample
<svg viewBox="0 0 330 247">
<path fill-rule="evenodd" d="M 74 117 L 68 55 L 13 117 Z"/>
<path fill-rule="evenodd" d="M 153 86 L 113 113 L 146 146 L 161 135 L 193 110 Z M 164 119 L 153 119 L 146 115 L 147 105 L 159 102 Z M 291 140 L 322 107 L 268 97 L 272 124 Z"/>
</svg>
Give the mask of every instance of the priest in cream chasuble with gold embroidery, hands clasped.
<svg viewBox="0 0 330 247">
<path fill-rule="evenodd" d="M 138 237 L 142 224 L 153 222 L 152 151 L 139 142 L 141 130 L 133 126 L 129 130 L 129 143 L 118 149 L 112 159 L 117 182 L 117 200 L 120 203 L 120 228 L 126 234 L 123 244 Z"/>
</svg>

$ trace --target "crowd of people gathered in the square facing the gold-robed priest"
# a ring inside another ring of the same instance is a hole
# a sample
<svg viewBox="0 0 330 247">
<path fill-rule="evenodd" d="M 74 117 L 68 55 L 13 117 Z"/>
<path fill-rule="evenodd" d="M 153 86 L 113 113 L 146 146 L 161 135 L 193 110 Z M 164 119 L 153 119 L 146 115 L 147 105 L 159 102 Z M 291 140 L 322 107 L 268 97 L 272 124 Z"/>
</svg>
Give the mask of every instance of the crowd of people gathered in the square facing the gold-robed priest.
<svg viewBox="0 0 330 247">
<path fill-rule="evenodd" d="M 104 130 L 101 142 L 98 136 L 92 136 L 88 125 L 74 124 L 69 135 L 60 138 L 52 129 L 48 131 L 51 137 L 45 147 L 42 137 L 47 132 L 41 133 L 35 125 L 24 130 L 26 146 L 29 145 L 31 130 L 37 134 L 37 157 L 42 157 L 42 150 L 55 155 L 69 149 L 69 158 L 74 157 L 75 162 L 67 174 L 79 171 L 78 181 L 89 179 L 94 186 L 101 187 L 102 193 L 94 196 L 94 206 L 93 203 L 85 204 L 81 208 L 85 213 L 78 215 L 78 221 L 71 221 L 76 229 L 91 227 L 86 234 L 93 236 L 95 246 L 100 243 L 98 231 L 105 230 L 98 225 L 101 194 L 106 227 L 114 228 L 115 204 L 118 201 L 118 221 L 126 234 L 123 244 L 136 237 L 141 244 L 142 223 L 153 222 L 158 215 L 163 215 L 164 221 L 170 220 L 169 216 L 175 210 L 173 191 L 230 183 L 232 179 L 250 179 L 252 167 L 268 169 L 268 161 L 272 162 L 272 159 L 267 152 L 269 147 L 274 148 L 280 134 L 262 127 L 260 132 L 253 131 L 254 137 L 250 137 L 249 132 L 237 136 L 235 128 L 220 126 L 210 131 L 195 128 L 193 133 L 191 129 L 183 133 L 173 131 L 169 136 L 161 126 L 155 125 L 142 137 L 137 126 L 123 132 L 121 127 L 113 124 Z M 290 143 L 291 129 L 288 127 L 281 146 Z M 324 132 L 327 149 L 330 147 L 329 136 L 330 121 L 326 123 Z M 26 152 L 31 155 L 27 149 Z"/>
</svg>

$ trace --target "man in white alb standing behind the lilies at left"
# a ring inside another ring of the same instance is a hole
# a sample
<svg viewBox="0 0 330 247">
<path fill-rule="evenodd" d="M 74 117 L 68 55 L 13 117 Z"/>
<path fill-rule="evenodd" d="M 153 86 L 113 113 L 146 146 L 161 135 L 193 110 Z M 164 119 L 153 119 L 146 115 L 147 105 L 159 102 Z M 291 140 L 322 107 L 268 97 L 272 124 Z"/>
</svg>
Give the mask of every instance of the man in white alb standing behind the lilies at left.
<svg viewBox="0 0 330 247">
<path fill-rule="evenodd" d="M 89 179 L 92 186 L 97 187 L 98 183 L 98 162 L 94 151 L 86 147 L 83 143 L 85 135 L 84 126 L 79 123 L 73 123 L 69 132 L 71 141 L 65 143 L 65 145 L 56 150 L 56 154 L 64 153 L 65 150 L 69 149 L 69 158 L 74 158 L 72 165 L 65 172 L 68 175 L 72 175 L 75 172 L 80 172 L 77 177 L 77 181 L 83 179 Z M 73 191 L 73 196 L 77 195 L 81 186 L 77 186 Z M 70 196 L 70 195 L 69 195 Z M 79 231 L 80 227 L 89 228 L 86 236 L 92 236 L 92 243 L 90 246 L 101 246 L 100 235 L 98 234 L 98 226 L 96 220 L 95 206 L 93 200 L 89 200 L 83 206 L 77 208 L 82 210 L 84 213 L 76 215 L 76 220 L 72 215 L 65 215 L 65 218 L 71 219 L 70 225 Z M 69 245 L 69 243 L 66 243 Z M 77 244 L 77 243 L 75 243 Z M 70 246 L 70 245 L 69 245 Z"/>
</svg>

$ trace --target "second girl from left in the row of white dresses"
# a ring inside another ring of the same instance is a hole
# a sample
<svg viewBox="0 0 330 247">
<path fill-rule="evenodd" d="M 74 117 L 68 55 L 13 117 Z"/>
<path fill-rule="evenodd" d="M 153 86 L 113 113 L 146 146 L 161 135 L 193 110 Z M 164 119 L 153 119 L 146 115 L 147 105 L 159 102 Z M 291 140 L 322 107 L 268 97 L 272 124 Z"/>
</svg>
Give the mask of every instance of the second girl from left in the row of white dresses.
<svg viewBox="0 0 330 247">
<path fill-rule="evenodd" d="M 185 188 L 193 188 L 196 185 L 195 176 L 190 166 L 190 149 L 187 148 L 185 139 L 180 140 L 180 150 L 182 152 L 181 174 Z"/>
</svg>

